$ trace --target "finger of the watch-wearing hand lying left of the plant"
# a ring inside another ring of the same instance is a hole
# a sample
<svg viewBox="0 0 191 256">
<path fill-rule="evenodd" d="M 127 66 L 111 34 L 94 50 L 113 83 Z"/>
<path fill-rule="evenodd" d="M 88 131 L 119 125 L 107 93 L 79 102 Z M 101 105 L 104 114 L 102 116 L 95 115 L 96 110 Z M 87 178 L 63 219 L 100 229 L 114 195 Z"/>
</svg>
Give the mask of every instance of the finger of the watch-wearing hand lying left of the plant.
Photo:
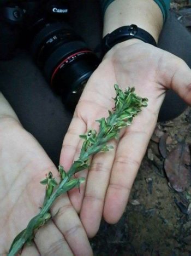
<svg viewBox="0 0 191 256">
<path fill-rule="evenodd" d="M 83 122 L 82 118 L 74 115 L 71 120 L 70 126 L 67 133 L 65 134 L 61 157 L 59 163 L 64 167 L 65 170 L 68 170 L 73 163 L 74 155 L 76 153 L 77 145 L 80 141 L 80 134 L 86 132 L 86 123 Z"/>
</svg>

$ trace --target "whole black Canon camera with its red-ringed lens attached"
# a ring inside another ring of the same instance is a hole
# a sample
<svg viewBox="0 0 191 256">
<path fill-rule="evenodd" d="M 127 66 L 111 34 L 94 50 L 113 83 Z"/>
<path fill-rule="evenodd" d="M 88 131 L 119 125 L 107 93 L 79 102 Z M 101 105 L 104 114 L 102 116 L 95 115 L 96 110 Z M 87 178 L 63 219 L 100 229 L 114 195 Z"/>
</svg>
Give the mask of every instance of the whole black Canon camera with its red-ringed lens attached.
<svg viewBox="0 0 191 256">
<path fill-rule="evenodd" d="M 5 1 L 0 8 L 0 59 L 28 49 L 51 88 L 75 107 L 99 59 L 68 25 L 67 1 Z"/>
</svg>

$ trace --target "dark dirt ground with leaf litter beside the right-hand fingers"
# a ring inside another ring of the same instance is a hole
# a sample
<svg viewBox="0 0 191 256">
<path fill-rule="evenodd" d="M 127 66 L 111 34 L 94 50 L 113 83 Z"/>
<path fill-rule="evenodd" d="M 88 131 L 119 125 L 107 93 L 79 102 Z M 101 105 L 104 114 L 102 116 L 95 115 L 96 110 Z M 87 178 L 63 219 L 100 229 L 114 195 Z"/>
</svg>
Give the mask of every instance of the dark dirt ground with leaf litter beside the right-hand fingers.
<svg viewBox="0 0 191 256">
<path fill-rule="evenodd" d="M 188 7 L 190 1 L 171 1 L 183 24 L 179 12 Z M 91 240 L 94 255 L 191 255 L 190 128 L 190 107 L 157 125 L 126 212 L 116 225 L 103 221 Z"/>
</svg>

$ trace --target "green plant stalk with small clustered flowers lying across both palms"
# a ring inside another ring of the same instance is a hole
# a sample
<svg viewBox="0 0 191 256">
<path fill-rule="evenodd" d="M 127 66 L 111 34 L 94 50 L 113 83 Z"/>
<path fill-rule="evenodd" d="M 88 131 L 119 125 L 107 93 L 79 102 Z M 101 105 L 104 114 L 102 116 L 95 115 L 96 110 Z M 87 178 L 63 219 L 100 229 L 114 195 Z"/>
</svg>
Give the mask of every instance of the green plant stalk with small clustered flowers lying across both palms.
<svg viewBox="0 0 191 256">
<path fill-rule="evenodd" d="M 130 126 L 133 117 L 141 111 L 141 107 L 147 106 L 148 100 L 136 95 L 134 87 L 126 89 L 125 92 L 122 92 L 117 84 L 114 85 L 114 88 L 116 90 L 114 111 L 109 111 L 108 118 L 103 117 L 97 120 L 100 123 L 98 133 L 96 130 L 89 130 L 87 134 L 80 135 L 84 142 L 78 160 L 74 161 L 67 173 L 62 166 L 58 167 L 61 177 L 59 184 L 52 177 L 51 172 L 49 172 L 46 179 L 40 182 L 46 185 L 43 206 L 39 214 L 29 221 L 26 229 L 15 237 L 9 249 L 9 256 L 15 255 L 25 244 L 32 242 L 35 232 L 51 218 L 50 208 L 58 196 L 74 187 L 79 187 L 85 181 L 84 178 L 75 178 L 74 174 L 89 168 L 89 157 L 97 152 L 112 149 L 112 146 L 107 145 L 108 141 L 114 138 L 117 139 L 120 130 Z"/>
</svg>

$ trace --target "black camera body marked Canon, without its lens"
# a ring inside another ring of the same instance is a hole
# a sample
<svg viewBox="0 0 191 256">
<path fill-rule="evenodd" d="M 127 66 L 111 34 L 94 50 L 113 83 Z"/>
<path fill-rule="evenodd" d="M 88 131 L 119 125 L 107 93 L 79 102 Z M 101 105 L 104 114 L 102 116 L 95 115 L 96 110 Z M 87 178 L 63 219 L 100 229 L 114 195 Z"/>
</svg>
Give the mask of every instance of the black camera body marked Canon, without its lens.
<svg viewBox="0 0 191 256">
<path fill-rule="evenodd" d="M 65 1 L 4 1 L 0 6 L 0 59 L 13 58 L 16 48 L 28 48 L 43 27 L 67 21 Z"/>
</svg>

